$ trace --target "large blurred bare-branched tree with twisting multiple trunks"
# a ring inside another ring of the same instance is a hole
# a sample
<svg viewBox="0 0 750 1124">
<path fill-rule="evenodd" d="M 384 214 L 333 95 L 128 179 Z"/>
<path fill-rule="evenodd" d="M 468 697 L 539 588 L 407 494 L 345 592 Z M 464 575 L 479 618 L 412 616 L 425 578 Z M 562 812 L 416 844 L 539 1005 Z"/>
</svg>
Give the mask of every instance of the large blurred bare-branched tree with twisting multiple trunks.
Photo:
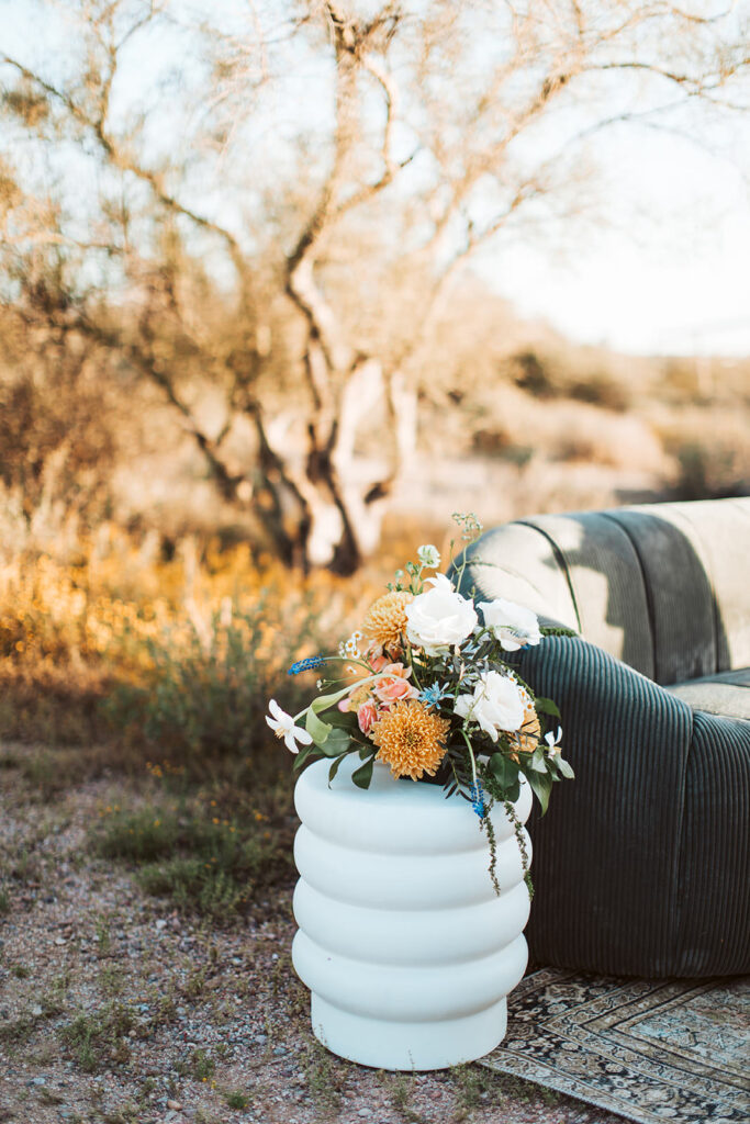
<svg viewBox="0 0 750 1124">
<path fill-rule="evenodd" d="M 701 132 L 748 105 L 747 19 L 711 0 L 76 0 L 64 18 L 63 58 L 0 54 L 6 303 L 118 353 L 282 558 L 342 572 L 377 545 L 464 264 L 584 215 L 602 130 Z"/>
</svg>

